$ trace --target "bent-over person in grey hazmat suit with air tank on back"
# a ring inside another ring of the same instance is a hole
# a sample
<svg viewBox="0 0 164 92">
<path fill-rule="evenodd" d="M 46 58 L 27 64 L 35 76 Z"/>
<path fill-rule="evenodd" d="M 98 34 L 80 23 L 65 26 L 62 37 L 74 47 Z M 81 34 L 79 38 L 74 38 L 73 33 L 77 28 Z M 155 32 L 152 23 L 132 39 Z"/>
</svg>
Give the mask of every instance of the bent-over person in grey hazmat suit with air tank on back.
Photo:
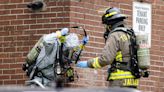
<svg viewBox="0 0 164 92">
<path fill-rule="evenodd" d="M 28 53 L 22 66 L 30 79 L 26 81 L 26 85 L 36 84 L 45 88 L 52 86 L 51 83 L 55 81 L 56 87 L 61 87 L 62 82 L 73 81 L 70 64 L 80 55 L 80 46 L 85 45 L 88 39 L 85 36 L 80 43 L 78 35 L 70 33 L 69 28 L 43 35 Z"/>
</svg>

